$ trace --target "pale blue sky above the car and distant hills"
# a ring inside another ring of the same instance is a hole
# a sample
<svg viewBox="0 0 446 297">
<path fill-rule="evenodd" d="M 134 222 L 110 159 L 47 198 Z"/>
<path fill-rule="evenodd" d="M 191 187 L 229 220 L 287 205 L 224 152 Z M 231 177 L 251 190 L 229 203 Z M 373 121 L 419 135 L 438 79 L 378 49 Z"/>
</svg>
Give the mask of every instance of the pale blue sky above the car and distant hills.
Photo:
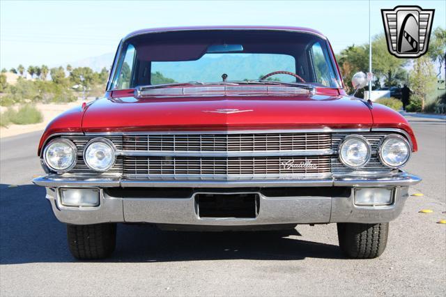
<svg viewBox="0 0 446 297">
<path fill-rule="evenodd" d="M 398 5 L 434 8 L 433 28 L 446 27 L 445 0 L 372 0 L 372 35 L 383 32 L 380 9 Z M 307 26 L 340 52 L 368 43 L 369 1 L 0 0 L 0 68 L 57 66 L 114 52 L 137 29 L 194 25 Z"/>
</svg>

